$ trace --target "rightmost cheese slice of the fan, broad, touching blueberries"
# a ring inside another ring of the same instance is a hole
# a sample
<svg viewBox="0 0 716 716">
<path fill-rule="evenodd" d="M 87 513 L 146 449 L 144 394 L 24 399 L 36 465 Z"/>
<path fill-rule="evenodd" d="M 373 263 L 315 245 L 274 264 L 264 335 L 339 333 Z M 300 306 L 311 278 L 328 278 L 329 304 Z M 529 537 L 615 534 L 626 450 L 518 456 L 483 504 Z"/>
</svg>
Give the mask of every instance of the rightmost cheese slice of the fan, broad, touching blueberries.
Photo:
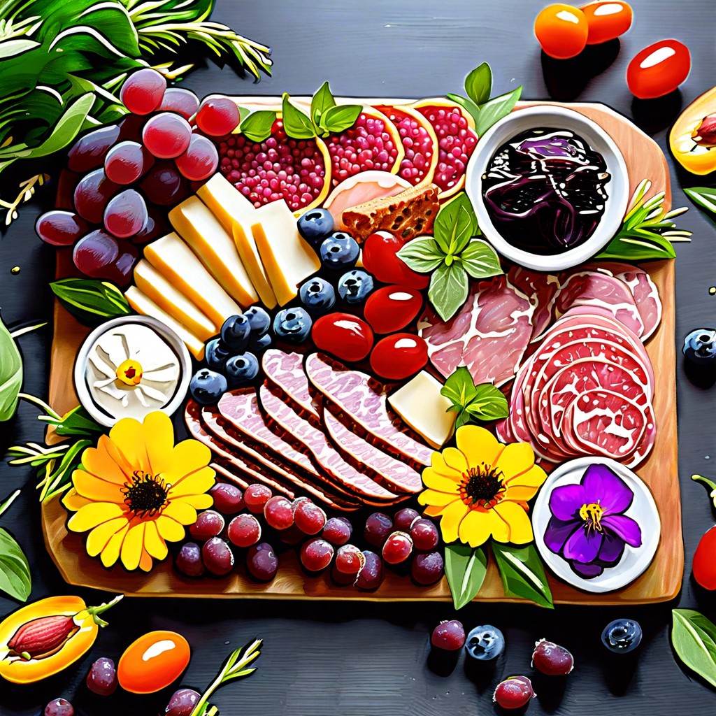
<svg viewBox="0 0 716 716">
<path fill-rule="evenodd" d="M 282 199 L 256 209 L 251 226 L 256 247 L 271 281 L 276 301 L 285 306 L 296 298 L 298 286 L 321 266 L 315 251 L 296 228 L 296 217 Z"/>
</svg>

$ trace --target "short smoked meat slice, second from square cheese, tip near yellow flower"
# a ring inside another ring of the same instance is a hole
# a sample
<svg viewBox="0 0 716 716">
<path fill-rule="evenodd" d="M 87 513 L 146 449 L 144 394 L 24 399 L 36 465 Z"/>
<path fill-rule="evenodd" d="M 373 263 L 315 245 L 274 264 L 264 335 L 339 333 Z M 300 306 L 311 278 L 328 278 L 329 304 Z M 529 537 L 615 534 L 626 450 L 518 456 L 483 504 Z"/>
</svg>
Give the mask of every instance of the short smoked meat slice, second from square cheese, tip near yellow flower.
<svg viewBox="0 0 716 716">
<path fill-rule="evenodd" d="M 324 408 L 323 420 L 328 435 L 339 451 L 359 468 L 367 468 L 392 490 L 415 494 L 422 490 L 420 474 L 407 463 L 378 450 L 362 437 L 343 425 L 337 417 Z"/>
</svg>

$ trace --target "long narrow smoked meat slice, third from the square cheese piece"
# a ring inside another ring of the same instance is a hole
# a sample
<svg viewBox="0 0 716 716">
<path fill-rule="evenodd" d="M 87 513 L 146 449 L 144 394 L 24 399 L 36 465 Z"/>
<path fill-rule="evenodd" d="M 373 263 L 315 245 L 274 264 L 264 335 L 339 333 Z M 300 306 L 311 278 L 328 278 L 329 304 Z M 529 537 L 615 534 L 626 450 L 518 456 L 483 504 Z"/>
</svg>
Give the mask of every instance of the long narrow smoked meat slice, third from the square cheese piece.
<svg viewBox="0 0 716 716">
<path fill-rule="evenodd" d="M 301 417 L 288 403 L 272 392 L 264 383 L 258 389 L 261 406 L 271 420 L 289 432 L 299 449 L 313 457 L 321 470 L 331 475 L 345 488 L 359 495 L 364 503 L 384 505 L 395 502 L 398 496 L 386 490 L 367 475 L 362 475 L 337 453 L 326 435 L 304 417 Z"/>
</svg>

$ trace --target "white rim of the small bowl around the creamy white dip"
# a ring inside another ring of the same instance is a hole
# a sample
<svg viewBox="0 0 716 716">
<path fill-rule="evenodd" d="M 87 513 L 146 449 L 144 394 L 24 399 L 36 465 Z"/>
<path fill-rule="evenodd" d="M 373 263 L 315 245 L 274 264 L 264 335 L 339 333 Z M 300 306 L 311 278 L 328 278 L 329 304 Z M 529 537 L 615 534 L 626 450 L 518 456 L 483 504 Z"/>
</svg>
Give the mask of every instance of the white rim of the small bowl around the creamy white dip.
<svg viewBox="0 0 716 716">
<path fill-rule="evenodd" d="M 89 385 L 87 384 L 87 361 L 89 357 L 89 351 L 92 346 L 95 345 L 97 339 L 100 338 L 107 331 L 114 329 L 116 326 L 123 326 L 126 324 L 141 324 L 142 326 L 148 326 L 153 331 L 157 332 L 162 337 L 169 347 L 175 353 L 179 362 L 179 380 L 174 394 L 169 398 L 166 405 L 163 405 L 159 410 L 165 412 L 167 415 L 172 415 L 178 410 L 182 401 L 186 397 L 186 393 L 189 390 L 189 382 L 191 380 L 191 357 L 188 349 L 180 337 L 178 337 L 169 326 L 166 326 L 162 321 L 158 321 L 151 316 L 120 316 L 119 318 L 112 319 L 103 323 L 101 326 L 97 326 L 92 333 L 84 339 L 84 343 L 77 352 L 77 359 L 74 362 L 74 387 L 77 390 L 77 397 L 79 398 L 80 405 L 87 410 L 92 420 L 95 420 L 100 425 L 105 427 L 112 427 L 112 425 L 120 420 L 120 417 L 112 417 L 104 410 L 101 410 L 97 406 L 97 403 L 92 400 L 92 395 L 89 393 Z M 148 409 L 157 410 L 157 408 Z"/>
</svg>

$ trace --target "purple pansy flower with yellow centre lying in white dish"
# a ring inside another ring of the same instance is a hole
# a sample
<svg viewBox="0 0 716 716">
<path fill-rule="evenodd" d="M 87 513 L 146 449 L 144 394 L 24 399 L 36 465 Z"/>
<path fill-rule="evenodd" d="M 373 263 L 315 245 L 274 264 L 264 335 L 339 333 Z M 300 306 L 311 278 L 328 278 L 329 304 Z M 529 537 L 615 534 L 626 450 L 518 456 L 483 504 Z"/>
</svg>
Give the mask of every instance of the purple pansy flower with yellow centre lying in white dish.
<svg viewBox="0 0 716 716">
<path fill-rule="evenodd" d="M 549 496 L 548 549 L 584 579 L 619 563 L 624 546 L 642 546 L 642 530 L 624 512 L 634 500 L 629 485 L 606 465 L 589 465 L 579 485 L 561 485 Z"/>
</svg>

